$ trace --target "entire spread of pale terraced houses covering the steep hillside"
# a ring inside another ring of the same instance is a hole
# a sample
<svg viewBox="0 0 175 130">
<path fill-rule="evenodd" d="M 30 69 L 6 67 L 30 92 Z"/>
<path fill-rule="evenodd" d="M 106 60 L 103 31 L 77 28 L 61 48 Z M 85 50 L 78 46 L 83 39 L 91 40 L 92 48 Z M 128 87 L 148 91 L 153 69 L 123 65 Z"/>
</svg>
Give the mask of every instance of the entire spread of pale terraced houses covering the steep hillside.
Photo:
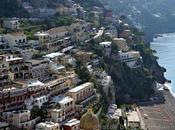
<svg viewBox="0 0 175 130">
<path fill-rule="evenodd" d="M 35 9 L 28 2 L 23 7 L 31 14 L 39 17 L 59 14 L 86 16 L 83 7 L 69 0 L 67 5 L 58 4 L 56 9 Z M 104 13 L 103 8 L 93 7 L 91 11 L 96 20 L 105 14 L 105 21 L 113 20 L 110 10 Z M 121 23 L 118 23 L 121 24 Z M 79 130 L 77 117 L 84 112 L 88 104 L 98 103 L 98 94 L 93 82 L 80 84 L 75 73 L 76 60 L 86 63 L 86 67 L 102 90 L 110 104 L 115 103 L 115 88 L 111 76 L 105 70 L 98 70 L 100 58 L 92 58 L 93 52 L 80 49 L 79 45 L 94 40 L 100 41 L 104 35 L 109 41 L 99 42 L 106 57 L 112 55 L 112 45 L 118 47 L 118 56 L 130 68 L 142 65 L 142 57 L 138 51 L 130 48 L 132 33 L 127 24 L 118 34 L 115 26 L 108 29 L 94 28 L 94 24 L 77 19 L 70 26 L 59 26 L 49 30 L 36 32 L 36 40 L 28 40 L 27 35 L 19 31 L 19 19 L 5 19 L 3 27 L 13 30 L 0 34 L 0 129 L 36 130 Z M 42 55 L 41 55 L 42 54 Z M 47 118 L 34 117 L 34 107 L 47 110 Z M 128 119 L 137 120 L 135 113 L 128 113 Z M 108 118 L 118 119 L 123 111 L 116 105 L 109 106 Z M 128 121 L 129 121 L 128 120 Z M 134 122 L 134 121 L 133 121 Z M 139 122 L 140 123 L 140 122 Z M 132 124 L 131 126 L 140 124 Z"/>
</svg>

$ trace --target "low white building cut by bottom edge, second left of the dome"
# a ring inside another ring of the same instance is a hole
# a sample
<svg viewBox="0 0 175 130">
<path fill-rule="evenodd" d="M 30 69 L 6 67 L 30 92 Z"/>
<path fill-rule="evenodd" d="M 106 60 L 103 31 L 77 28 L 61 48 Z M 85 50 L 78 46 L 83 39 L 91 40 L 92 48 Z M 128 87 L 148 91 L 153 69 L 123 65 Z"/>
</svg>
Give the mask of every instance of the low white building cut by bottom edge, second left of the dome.
<svg viewBox="0 0 175 130">
<path fill-rule="evenodd" d="M 36 125 L 36 130 L 60 130 L 60 125 L 53 122 L 41 122 Z"/>
</svg>

